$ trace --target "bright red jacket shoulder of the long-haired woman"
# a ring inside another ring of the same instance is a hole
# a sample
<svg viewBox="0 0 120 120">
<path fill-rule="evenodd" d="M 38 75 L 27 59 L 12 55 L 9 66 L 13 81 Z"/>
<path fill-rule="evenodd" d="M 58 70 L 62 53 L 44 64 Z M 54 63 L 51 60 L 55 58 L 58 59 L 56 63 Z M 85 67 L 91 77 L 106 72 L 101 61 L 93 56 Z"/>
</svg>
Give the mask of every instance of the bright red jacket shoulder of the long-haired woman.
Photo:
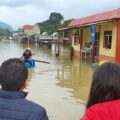
<svg viewBox="0 0 120 120">
<path fill-rule="evenodd" d="M 81 120 L 109 120 L 117 116 L 120 119 L 120 100 L 95 104 L 87 109 L 85 116 Z"/>
</svg>

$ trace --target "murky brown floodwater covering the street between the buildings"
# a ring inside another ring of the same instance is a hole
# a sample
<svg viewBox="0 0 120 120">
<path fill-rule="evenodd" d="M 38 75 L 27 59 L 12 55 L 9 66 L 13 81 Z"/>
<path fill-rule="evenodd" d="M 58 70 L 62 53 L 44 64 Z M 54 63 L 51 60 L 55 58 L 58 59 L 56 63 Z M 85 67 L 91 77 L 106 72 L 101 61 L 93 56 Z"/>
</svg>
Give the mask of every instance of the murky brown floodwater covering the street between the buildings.
<svg viewBox="0 0 120 120">
<path fill-rule="evenodd" d="M 14 42 L 0 43 L 0 64 L 13 57 L 20 57 L 27 46 Z M 85 112 L 85 104 L 91 84 L 93 70 L 89 62 L 70 60 L 68 46 L 61 47 L 60 57 L 52 49 L 30 46 L 34 59 L 48 61 L 36 63 L 29 70 L 29 95 L 47 110 L 50 120 L 79 120 Z"/>
</svg>

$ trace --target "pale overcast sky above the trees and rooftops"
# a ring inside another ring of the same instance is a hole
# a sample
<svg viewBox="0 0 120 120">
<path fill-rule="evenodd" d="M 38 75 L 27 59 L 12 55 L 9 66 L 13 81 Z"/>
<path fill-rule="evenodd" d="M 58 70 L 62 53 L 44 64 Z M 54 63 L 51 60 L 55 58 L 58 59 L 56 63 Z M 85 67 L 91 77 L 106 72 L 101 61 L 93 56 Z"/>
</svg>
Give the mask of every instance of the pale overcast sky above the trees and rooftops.
<svg viewBox="0 0 120 120">
<path fill-rule="evenodd" d="M 0 0 L 0 21 L 17 29 L 47 20 L 51 12 L 69 19 L 116 8 L 120 8 L 120 0 Z"/>
</svg>

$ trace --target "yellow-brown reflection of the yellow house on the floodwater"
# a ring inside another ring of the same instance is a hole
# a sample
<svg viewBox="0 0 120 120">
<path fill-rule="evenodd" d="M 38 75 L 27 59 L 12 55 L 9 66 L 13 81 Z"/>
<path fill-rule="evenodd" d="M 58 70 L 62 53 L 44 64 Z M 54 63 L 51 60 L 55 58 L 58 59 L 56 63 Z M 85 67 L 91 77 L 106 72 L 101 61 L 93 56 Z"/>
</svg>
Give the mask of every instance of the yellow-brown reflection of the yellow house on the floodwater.
<svg viewBox="0 0 120 120">
<path fill-rule="evenodd" d="M 69 92 L 77 101 L 85 103 L 91 84 L 92 69 L 90 64 L 78 60 L 64 61 L 57 69 L 58 86 L 70 88 Z"/>
</svg>

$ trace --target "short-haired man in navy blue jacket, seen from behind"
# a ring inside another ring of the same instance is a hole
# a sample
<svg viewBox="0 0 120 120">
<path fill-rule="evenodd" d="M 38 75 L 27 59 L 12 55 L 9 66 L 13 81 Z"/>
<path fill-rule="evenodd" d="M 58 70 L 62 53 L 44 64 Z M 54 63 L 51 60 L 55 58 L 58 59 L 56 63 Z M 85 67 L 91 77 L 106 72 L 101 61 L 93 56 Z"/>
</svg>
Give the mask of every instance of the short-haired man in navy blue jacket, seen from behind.
<svg viewBox="0 0 120 120">
<path fill-rule="evenodd" d="M 0 66 L 0 120 L 48 120 L 45 108 L 26 100 L 28 69 L 19 59 Z"/>
</svg>

